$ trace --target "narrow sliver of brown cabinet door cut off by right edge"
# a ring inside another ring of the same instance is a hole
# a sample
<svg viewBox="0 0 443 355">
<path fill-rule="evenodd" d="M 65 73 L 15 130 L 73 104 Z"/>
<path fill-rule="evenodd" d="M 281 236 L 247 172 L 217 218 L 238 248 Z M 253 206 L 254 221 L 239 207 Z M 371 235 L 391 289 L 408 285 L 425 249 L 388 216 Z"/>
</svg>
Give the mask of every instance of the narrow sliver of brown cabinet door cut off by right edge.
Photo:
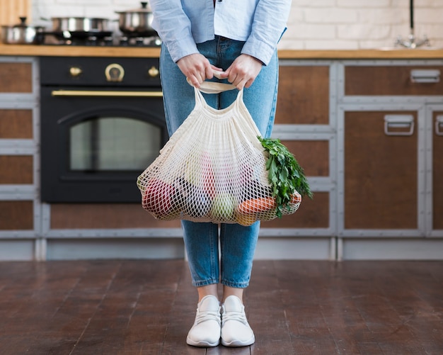
<svg viewBox="0 0 443 355">
<path fill-rule="evenodd" d="M 443 111 L 432 122 L 432 229 L 443 230 Z"/>
</svg>

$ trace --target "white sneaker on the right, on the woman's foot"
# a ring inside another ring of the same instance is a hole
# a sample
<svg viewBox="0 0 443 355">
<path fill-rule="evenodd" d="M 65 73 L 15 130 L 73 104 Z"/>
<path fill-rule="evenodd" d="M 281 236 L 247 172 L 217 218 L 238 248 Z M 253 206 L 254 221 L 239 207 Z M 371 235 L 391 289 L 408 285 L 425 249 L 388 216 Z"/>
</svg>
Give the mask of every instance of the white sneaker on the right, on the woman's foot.
<svg viewBox="0 0 443 355">
<path fill-rule="evenodd" d="M 254 332 L 246 319 L 240 298 L 230 295 L 222 305 L 222 344 L 247 346 L 255 342 Z"/>
</svg>

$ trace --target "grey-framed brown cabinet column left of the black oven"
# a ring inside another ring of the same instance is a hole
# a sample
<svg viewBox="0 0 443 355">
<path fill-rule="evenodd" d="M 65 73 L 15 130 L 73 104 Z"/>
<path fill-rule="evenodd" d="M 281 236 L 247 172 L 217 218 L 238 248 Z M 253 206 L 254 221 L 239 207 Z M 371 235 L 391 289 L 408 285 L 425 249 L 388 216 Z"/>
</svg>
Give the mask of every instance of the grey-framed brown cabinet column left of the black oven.
<svg viewBox="0 0 443 355">
<path fill-rule="evenodd" d="M 42 259 L 36 68 L 34 58 L 0 57 L 0 259 Z"/>
</svg>

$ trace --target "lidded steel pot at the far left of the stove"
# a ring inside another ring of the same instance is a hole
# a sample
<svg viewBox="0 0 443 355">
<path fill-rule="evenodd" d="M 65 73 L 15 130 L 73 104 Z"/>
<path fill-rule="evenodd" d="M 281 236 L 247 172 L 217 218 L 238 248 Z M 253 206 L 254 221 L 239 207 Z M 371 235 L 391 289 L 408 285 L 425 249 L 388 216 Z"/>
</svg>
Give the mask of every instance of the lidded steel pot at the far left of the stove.
<svg viewBox="0 0 443 355">
<path fill-rule="evenodd" d="M 13 45 L 36 45 L 42 43 L 44 30 L 42 26 L 27 25 L 26 18 L 21 17 L 17 25 L 1 26 L 1 40 Z"/>
</svg>

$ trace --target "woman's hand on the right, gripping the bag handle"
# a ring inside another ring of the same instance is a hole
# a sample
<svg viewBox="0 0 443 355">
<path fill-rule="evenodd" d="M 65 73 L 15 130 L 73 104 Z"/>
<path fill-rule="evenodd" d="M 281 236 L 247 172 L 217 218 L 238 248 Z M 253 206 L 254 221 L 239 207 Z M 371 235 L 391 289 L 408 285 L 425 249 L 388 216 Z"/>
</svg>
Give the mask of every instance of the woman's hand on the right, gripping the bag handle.
<svg viewBox="0 0 443 355">
<path fill-rule="evenodd" d="M 228 81 L 236 86 L 238 90 L 243 87 L 248 88 L 252 85 L 260 70 L 263 67 L 263 63 L 251 55 L 239 55 L 231 66 L 226 69 L 222 77 L 227 78 Z"/>
</svg>

